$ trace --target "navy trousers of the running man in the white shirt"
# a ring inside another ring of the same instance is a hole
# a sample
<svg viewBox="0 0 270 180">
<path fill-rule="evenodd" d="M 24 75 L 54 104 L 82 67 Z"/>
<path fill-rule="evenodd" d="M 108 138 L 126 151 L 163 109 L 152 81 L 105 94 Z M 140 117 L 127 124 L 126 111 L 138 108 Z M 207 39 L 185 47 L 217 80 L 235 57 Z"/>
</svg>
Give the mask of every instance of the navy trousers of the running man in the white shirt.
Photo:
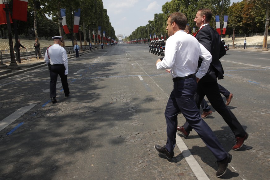
<svg viewBox="0 0 270 180">
<path fill-rule="evenodd" d="M 174 90 L 170 94 L 165 110 L 167 123 L 167 143 L 165 148 L 169 152 L 174 151 L 178 124 L 177 115 L 181 111 L 186 121 L 198 133 L 217 161 L 221 161 L 227 157 L 228 153 L 225 152 L 211 128 L 201 118 L 194 100 L 196 89 L 196 78 L 182 79 L 174 82 Z"/>
</svg>

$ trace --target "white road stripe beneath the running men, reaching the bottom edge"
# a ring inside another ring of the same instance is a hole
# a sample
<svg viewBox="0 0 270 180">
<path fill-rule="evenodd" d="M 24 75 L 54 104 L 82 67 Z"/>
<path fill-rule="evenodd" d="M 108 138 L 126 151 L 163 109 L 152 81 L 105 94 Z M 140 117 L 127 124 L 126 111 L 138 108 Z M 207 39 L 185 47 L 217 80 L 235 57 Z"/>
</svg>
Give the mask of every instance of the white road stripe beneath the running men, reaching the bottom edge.
<svg viewBox="0 0 270 180">
<path fill-rule="evenodd" d="M 195 160 L 194 156 L 192 156 L 183 139 L 178 135 L 176 135 L 176 144 L 178 149 L 182 152 L 182 155 L 184 156 L 187 164 L 195 174 L 196 178 L 198 180 L 208 180 L 208 176 L 205 174 L 199 163 Z"/>
</svg>

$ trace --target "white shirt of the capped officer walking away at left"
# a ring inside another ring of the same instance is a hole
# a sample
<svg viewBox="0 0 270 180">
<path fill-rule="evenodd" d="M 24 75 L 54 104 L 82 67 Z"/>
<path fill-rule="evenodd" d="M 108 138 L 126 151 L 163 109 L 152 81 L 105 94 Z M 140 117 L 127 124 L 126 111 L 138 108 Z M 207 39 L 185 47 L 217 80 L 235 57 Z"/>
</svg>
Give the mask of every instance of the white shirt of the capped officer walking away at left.
<svg viewBox="0 0 270 180">
<path fill-rule="evenodd" d="M 67 61 L 67 54 L 66 49 L 58 44 L 54 44 L 49 47 L 48 54 L 47 51 L 45 53 L 44 60 L 46 64 L 48 65 L 49 61 L 51 64 L 64 64 L 66 70 L 68 70 L 68 61 Z"/>
</svg>

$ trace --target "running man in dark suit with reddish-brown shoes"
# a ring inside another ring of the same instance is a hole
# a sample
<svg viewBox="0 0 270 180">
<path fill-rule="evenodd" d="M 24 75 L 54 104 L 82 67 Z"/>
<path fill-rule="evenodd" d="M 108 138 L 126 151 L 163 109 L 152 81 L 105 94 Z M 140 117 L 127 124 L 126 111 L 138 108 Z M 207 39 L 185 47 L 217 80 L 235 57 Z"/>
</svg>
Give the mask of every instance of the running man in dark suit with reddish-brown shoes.
<svg viewBox="0 0 270 180">
<path fill-rule="evenodd" d="M 232 149 L 238 150 L 248 138 L 248 134 L 230 109 L 226 107 L 219 92 L 216 78 L 223 79 L 224 74 L 219 59 L 226 54 L 226 50 L 221 43 L 219 34 L 209 25 L 211 18 L 212 11 L 210 9 L 199 9 L 194 19 L 196 26 L 199 28 L 195 37 L 212 55 L 212 62 L 206 75 L 198 82 L 198 97 L 196 102 L 199 107 L 199 103 L 203 100 L 204 96 L 207 96 L 212 107 L 222 116 L 233 131 L 236 137 L 236 144 Z M 200 66 L 201 63 L 202 61 L 199 60 L 198 66 Z M 192 130 L 192 127 L 186 122 L 178 130 L 187 137 Z"/>
</svg>

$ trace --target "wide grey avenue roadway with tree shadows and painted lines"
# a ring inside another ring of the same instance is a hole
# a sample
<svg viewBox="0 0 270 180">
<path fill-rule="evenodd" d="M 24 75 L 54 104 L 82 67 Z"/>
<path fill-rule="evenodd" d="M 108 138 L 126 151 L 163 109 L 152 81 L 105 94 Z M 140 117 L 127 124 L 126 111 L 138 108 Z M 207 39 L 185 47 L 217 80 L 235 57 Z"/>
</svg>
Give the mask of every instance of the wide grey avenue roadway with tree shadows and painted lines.
<svg viewBox="0 0 270 180">
<path fill-rule="evenodd" d="M 233 155 L 223 179 L 269 179 L 269 57 L 230 49 L 221 58 L 219 83 L 234 94 L 229 108 L 249 133 L 233 151 L 234 135 L 221 116 L 212 109 L 205 119 Z M 166 143 L 164 110 L 173 88 L 171 75 L 156 69 L 157 59 L 146 45 L 72 58 L 71 96 L 64 97 L 58 79 L 56 104 L 45 66 L 1 79 L 0 179 L 218 179 L 216 160 L 195 131 L 177 136 L 172 160 L 154 150 Z M 178 124 L 184 122 L 179 114 Z"/>
</svg>

